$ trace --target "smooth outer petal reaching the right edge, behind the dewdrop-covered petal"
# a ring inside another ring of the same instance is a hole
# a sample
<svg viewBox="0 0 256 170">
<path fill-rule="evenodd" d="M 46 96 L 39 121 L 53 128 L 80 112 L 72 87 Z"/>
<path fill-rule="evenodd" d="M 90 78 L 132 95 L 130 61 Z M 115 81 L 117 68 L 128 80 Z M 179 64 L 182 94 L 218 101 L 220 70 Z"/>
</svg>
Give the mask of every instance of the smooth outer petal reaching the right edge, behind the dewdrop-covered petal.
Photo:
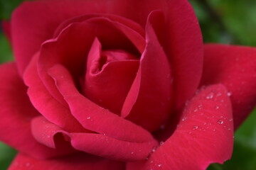
<svg viewBox="0 0 256 170">
<path fill-rule="evenodd" d="M 235 128 L 256 104 L 256 48 L 205 45 L 201 84 L 224 84 L 230 91 Z"/>
</svg>

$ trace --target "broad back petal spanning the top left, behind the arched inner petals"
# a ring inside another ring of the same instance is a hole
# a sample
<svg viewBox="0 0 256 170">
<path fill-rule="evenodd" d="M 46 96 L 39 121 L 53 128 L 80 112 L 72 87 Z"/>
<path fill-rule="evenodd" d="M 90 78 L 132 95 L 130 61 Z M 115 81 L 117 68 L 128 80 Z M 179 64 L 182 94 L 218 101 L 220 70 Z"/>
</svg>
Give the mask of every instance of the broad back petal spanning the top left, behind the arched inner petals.
<svg viewBox="0 0 256 170">
<path fill-rule="evenodd" d="M 18 62 L 18 70 L 23 73 L 42 42 L 52 38 L 55 29 L 68 18 L 87 13 L 112 13 L 132 18 L 143 25 L 148 13 L 155 8 L 159 8 L 159 2 L 154 0 L 146 2 L 53 0 L 23 3 L 14 11 L 11 18 L 14 55 Z"/>
</svg>

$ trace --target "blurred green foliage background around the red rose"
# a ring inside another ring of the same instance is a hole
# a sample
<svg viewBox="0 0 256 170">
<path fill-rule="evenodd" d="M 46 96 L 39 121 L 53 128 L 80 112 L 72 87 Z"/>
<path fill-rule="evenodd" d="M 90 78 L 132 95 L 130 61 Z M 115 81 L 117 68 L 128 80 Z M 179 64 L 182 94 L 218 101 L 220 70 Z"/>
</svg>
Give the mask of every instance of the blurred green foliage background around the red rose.
<svg viewBox="0 0 256 170">
<path fill-rule="evenodd" d="M 0 20 L 8 20 L 22 0 L 0 0 Z M 178 0 L 177 0 L 178 1 Z M 190 0 L 198 16 L 204 42 L 256 47 L 255 0 Z M 11 47 L 0 30 L 0 63 L 13 60 Z M 16 151 L 0 142 L 0 169 L 7 169 Z M 208 170 L 256 169 L 256 111 L 235 132 L 233 157 Z"/>
</svg>

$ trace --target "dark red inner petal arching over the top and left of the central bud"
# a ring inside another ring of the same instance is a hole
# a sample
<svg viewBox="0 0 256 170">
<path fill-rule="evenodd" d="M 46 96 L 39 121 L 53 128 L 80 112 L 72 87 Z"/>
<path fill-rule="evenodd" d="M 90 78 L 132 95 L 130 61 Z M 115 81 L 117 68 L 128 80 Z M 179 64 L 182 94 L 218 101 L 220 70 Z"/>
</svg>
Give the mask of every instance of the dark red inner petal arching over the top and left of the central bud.
<svg viewBox="0 0 256 170">
<path fill-rule="evenodd" d="M 70 70 L 76 84 L 85 72 L 85 62 L 93 40 L 97 37 L 102 43 L 102 47 L 109 49 L 122 49 L 132 53 L 139 53 L 137 47 L 129 40 L 134 35 L 139 38 L 139 44 L 144 47 L 144 38 L 138 33 L 130 32 L 121 23 L 115 23 L 107 18 L 90 18 L 82 23 L 73 23 L 65 28 L 56 39 L 48 40 L 42 45 L 38 60 L 38 73 L 43 84 L 50 94 L 60 103 L 63 102 L 62 96 L 55 88 L 54 81 L 47 71 L 54 64 L 60 63 Z M 129 33 L 124 33 L 126 30 Z M 72 58 L 72 60 L 71 60 Z"/>
</svg>

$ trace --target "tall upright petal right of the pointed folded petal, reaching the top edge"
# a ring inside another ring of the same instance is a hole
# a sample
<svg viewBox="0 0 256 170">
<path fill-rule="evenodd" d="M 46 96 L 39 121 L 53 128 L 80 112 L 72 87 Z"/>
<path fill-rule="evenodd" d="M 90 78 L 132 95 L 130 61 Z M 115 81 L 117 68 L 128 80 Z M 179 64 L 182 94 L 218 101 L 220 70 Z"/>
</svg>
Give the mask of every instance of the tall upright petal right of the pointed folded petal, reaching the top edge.
<svg viewBox="0 0 256 170">
<path fill-rule="evenodd" d="M 164 1 L 163 8 L 164 16 L 152 17 L 151 23 L 169 56 L 176 107 L 181 108 L 193 96 L 201 80 L 203 39 L 196 14 L 187 0 Z"/>
</svg>

